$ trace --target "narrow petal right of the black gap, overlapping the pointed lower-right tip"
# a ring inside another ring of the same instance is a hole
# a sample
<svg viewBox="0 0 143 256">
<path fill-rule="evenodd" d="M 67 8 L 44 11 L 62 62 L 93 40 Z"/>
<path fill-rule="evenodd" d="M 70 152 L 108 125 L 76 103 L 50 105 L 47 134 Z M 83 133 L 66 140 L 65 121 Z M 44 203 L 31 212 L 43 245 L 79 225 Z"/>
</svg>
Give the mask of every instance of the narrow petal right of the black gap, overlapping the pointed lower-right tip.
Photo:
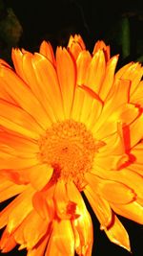
<svg viewBox="0 0 143 256">
<path fill-rule="evenodd" d="M 109 202 L 97 195 L 89 185 L 85 187 L 84 193 L 92 206 L 94 214 L 100 221 L 100 228 L 108 227 L 112 222 L 112 209 Z"/>
</svg>

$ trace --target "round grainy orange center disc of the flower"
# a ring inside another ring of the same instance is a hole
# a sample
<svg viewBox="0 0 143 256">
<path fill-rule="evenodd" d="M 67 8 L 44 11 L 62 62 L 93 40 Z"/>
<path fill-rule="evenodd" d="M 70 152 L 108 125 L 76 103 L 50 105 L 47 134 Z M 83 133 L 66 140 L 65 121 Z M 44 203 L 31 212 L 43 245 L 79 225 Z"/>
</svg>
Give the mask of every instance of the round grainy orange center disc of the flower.
<svg viewBox="0 0 143 256">
<path fill-rule="evenodd" d="M 39 155 L 42 162 L 53 167 L 56 179 L 72 179 L 82 190 L 84 174 L 92 169 L 94 153 L 101 146 L 84 124 L 66 120 L 47 129 L 39 140 Z"/>
</svg>

